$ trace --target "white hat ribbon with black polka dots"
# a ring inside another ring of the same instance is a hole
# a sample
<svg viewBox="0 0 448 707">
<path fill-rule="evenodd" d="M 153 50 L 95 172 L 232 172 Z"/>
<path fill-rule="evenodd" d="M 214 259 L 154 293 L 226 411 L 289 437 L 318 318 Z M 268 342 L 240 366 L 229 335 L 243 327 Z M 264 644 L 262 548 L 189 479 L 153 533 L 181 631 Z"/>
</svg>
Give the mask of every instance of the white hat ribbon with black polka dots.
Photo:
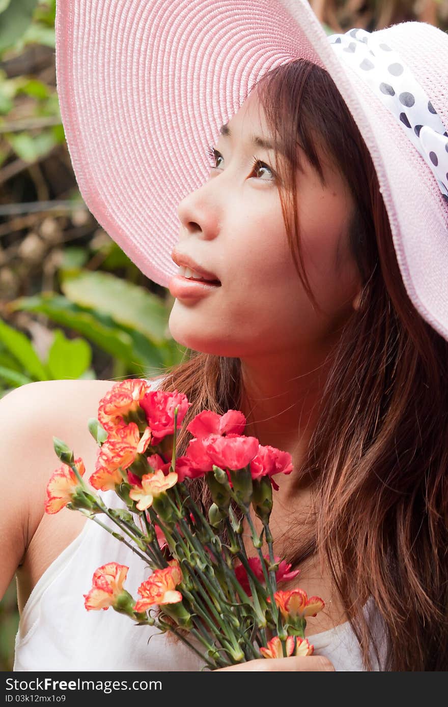
<svg viewBox="0 0 448 707">
<path fill-rule="evenodd" d="M 350 66 L 396 117 L 430 166 L 448 203 L 448 132 L 430 98 L 398 52 L 361 28 L 328 35 Z"/>
</svg>

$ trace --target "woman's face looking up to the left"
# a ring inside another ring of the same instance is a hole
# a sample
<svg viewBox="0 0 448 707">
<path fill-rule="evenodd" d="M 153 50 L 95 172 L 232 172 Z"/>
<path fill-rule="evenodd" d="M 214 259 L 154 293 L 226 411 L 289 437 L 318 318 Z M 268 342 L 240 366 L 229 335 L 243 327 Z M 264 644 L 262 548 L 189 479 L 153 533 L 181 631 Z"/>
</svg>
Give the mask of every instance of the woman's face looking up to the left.
<svg viewBox="0 0 448 707">
<path fill-rule="evenodd" d="M 221 286 L 205 296 L 176 298 L 171 334 L 195 351 L 239 358 L 321 345 L 352 312 L 359 290 L 348 252 L 353 208 L 348 187 L 325 154 L 323 187 L 302 154 L 297 201 L 304 267 L 323 315 L 294 267 L 270 171 L 274 153 L 251 142 L 252 136 L 271 137 L 255 91 L 227 126 L 230 135 L 220 135 L 214 145 L 216 168 L 178 206 L 180 238 L 173 251 L 215 274 Z M 268 166 L 253 168 L 254 156 Z"/>
</svg>

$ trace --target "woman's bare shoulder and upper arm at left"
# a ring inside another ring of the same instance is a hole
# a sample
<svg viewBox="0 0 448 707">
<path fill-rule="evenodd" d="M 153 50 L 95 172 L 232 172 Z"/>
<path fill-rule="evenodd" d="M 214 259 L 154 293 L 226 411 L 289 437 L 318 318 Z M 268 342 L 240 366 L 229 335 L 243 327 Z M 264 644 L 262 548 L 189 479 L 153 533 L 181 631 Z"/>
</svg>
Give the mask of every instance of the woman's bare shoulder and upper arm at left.
<svg viewBox="0 0 448 707">
<path fill-rule="evenodd" d="M 0 596 L 17 571 L 19 608 L 54 559 L 75 539 L 86 518 L 67 509 L 44 513 L 48 479 L 60 462 L 53 436 L 64 440 L 93 471 L 98 446 L 88 418 L 111 380 L 50 380 L 23 385 L 0 399 L 0 465 L 2 488 Z M 5 555 L 5 556 L 4 556 Z"/>
</svg>

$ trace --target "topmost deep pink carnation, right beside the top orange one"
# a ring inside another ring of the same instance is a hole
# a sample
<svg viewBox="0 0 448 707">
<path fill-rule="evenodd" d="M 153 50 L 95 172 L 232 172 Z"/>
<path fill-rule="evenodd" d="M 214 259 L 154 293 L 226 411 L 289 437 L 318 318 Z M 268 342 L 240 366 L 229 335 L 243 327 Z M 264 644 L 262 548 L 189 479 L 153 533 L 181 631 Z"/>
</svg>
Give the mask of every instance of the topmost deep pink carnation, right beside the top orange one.
<svg viewBox="0 0 448 707">
<path fill-rule="evenodd" d="M 144 409 L 149 427 L 152 433 L 152 445 L 158 445 L 167 435 L 174 433 L 174 410 L 178 407 L 177 427 L 185 417 L 185 413 L 190 407 L 186 395 L 165 390 L 150 390 L 140 401 Z"/>
</svg>

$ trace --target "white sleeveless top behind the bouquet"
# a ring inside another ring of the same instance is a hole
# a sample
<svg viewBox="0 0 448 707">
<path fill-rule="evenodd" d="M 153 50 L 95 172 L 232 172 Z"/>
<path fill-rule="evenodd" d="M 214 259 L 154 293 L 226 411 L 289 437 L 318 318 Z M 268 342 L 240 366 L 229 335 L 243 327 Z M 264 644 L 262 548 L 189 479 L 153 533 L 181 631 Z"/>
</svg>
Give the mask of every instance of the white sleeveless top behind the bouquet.
<svg viewBox="0 0 448 707">
<path fill-rule="evenodd" d="M 154 381 L 150 381 L 153 383 Z M 115 491 L 99 491 L 110 507 L 125 507 Z M 101 521 L 116 530 L 107 517 Z M 129 566 L 125 588 L 138 598 L 137 588 L 151 574 L 142 559 L 92 520 L 50 564 L 28 597 L 16 635 L 15 671 L 197 671 L 205 662 L 181 642 L 173 643 L 155 626 L 136 626 L 112 608 L 87 611 L 84 597 L 96 568 L 108 562 Z M 386 642 L 384 626 L 373 597 L 364 605 L 379 636 L 381 666 Z M 373 614 L 372 614 L 373 612 Z M 312 621 L 312 619 L 311 619 Z M 151 640 L 148 643 L 148 639 Z M 201 650 L 199 642 L 192 641 Z M 309 636 L 315 655 L 325 655 L 335 670 L 364 670 L 350 624 Z M 204 649 L 205 650 L 205 649 Z M 372 651 L 374 670 L 380 667 Z"/>
</svg>

